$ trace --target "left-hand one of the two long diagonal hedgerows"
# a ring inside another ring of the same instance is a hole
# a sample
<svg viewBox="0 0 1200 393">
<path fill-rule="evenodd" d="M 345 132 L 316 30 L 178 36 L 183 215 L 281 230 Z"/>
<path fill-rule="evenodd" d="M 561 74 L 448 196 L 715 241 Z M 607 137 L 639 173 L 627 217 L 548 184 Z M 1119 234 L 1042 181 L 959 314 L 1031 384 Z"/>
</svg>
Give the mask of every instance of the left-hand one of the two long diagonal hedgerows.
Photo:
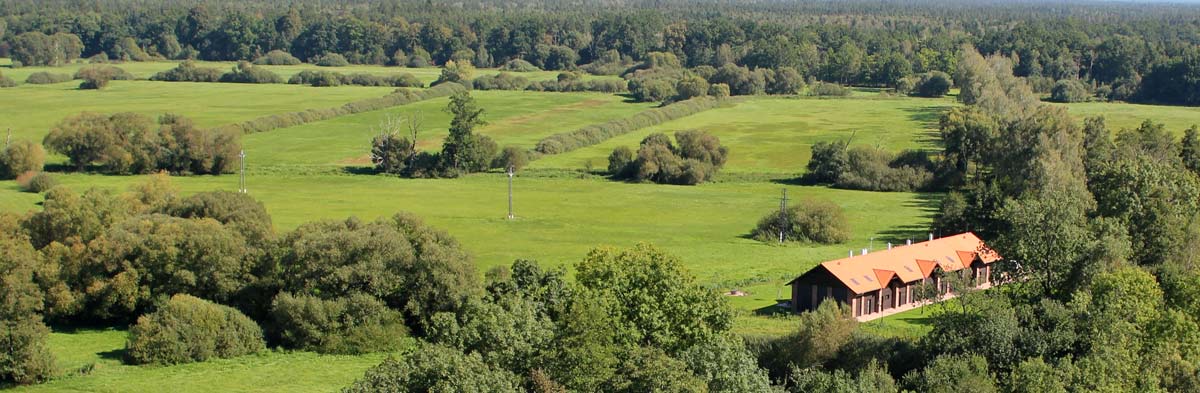
<svg viewBox="0 0 1200 393">
<path fill-rule="evenodd" d="M 397 89 L 392 93 L 379 98 L 355 101 L 335 108 L 308 109 L 287 114 L 266 115 L 235 125 L 222 126 L 220 128 L 226 131 L 235 131 L 240 133 L 266 132 L 276 128 L 293 127 L 313 121 L 332 119 L 337 116 L 406 105 L 418 101 L 450 96 L 456 91 L 464 91 L 464 90 L 466 89 L 462 85 L 454 83 L 440 84 L 430 89 L 420 89 L 420 90 Z"/>
</svg>

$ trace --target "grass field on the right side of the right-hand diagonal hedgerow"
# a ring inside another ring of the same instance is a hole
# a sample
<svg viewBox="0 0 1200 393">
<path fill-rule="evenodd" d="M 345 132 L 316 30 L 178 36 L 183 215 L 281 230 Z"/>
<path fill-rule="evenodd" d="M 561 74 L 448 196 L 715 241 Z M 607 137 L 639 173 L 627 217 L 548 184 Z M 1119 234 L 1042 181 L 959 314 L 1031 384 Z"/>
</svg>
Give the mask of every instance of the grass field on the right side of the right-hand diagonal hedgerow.
<svg viewBox="0 0 1200 393">
<path fill-rule="evenodd" d="M 893 151 L 934 149 L 938 138 L 937 119 L 955 104 L 950 99 L 863 95 L 838 99 L 749 99 L 545 157 L 532 168 L 583 168 L 589 161 L 602 168 L 614 147 L 636 149 L 650 133 L 702 129 L 721 138 L 721 144 L 730 147 L 730 161 L 722 171 L 796 174 L 804 171 L 811 146 L 817 141 L 845 140 L 853 135 L 854 145 Z"/>
</svg>

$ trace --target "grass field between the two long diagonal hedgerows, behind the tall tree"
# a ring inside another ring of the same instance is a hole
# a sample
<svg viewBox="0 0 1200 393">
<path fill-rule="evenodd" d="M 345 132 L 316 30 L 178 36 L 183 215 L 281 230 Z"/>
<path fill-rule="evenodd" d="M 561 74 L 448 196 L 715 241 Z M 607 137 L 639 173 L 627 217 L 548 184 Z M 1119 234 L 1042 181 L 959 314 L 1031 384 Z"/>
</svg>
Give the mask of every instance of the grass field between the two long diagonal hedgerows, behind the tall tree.
<svg viewBox="0 0 1200 393">
<path fill-rule="evenodd" d="M 556 132 L 624 117 L 650 104 L 625 103 L 605 93 L 563 93 L 530 91 L 472 92 L 488 125 L 479 132 L 500 146 L 532 149 L 539 139 Z M 438 150 L 450 123 L 444 108 L 449 98 L 436 98 L 404 107 L 382 109 L 304 126 L 246 135 L 242 144 L 252 157 L 250 165 L 370 165 L 371 139 L 388 116 L 419 115 L 419 147 Z M 407 131 L 404 131 L 407 133 Z"/>
</svg>

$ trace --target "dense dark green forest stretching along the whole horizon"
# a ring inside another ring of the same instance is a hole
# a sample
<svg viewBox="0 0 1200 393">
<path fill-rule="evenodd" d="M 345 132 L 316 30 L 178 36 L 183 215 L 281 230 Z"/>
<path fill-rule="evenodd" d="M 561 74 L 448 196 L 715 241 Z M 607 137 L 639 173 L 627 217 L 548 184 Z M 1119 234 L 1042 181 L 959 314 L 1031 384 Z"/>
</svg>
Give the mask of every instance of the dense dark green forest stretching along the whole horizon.
<svg viewBox="0 0 1200 393">
<path fill-rule="evenodd" d="M 652 53 L 684 67 L 794 69 L 809 79 L 896 86 L 954 73 L 962 44 L 1002 54 L 1038 92 L 1078 81 L 1099 99 L 1198 104 L 1200 7 L 1090 2 L 6 0 L 0 55 L 256 60 L 620 73 Z M 613 7 L 619 5 L 620 7 Z M 59 52 L 59 53 L 55 53 Z M 703 73 L 703 72 L 701 72 Z M 764 78 L 750 75 L 750 79 Z M 769 77 L 766 77 L 769 78 Z M 751 87 L 752 89 L 752 87 Z M 737 89 L 734 89 L 737 90 Z M 761 91 L 761 87 L 760 87 Z M 734 92 L 737 93 L 737 92 Z"/>
</svg>

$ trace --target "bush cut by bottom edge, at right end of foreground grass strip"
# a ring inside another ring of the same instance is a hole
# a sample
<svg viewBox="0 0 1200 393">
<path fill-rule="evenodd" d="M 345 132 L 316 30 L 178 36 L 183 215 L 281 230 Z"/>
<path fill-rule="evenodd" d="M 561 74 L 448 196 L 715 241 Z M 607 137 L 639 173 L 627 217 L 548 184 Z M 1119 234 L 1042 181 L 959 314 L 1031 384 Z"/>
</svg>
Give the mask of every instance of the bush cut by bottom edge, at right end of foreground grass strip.
<svg viewBox="0 0 1200 393">
<path fill-rule="evenodd" d="M 442 345 L 420 345 L 401 359 L 389 357 L 372 367 L 343 393 L 378 392 L 523 392 L 521 379 L 484 362 L 479 353 L 466 355 Z"/>
</svg>

